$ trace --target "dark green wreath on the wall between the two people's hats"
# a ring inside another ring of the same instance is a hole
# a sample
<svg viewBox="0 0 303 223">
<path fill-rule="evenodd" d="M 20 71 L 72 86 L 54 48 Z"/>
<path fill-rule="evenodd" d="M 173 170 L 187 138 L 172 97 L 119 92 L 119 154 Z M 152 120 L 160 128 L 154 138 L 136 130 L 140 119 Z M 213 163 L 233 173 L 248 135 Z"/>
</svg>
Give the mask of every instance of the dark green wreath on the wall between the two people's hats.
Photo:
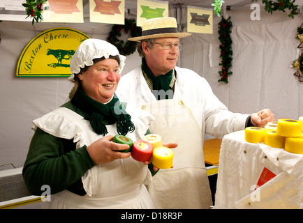
<svg viewBox="0 0 303 223">
<path fill-rule="evenodd" d="M 107 40 L 109 43 L 112 43 L 119 50 L 120 54 L 127 56 L 135 52 L 136 42 L 127 40 L 124 44 L 123 40 L 119 40 L 118 37 L 121 36 L 121 31 L 124 30 L 124 33 L 128 34 L 130 32 L 131 37 L 141 36 L 142 29 L 138 27 L 135 23 L 135 19 L 125 19 L 124 25 L 114 24 L 112 26 L 112 31 L 110 31 L 110 36 Z"/>
</svg>

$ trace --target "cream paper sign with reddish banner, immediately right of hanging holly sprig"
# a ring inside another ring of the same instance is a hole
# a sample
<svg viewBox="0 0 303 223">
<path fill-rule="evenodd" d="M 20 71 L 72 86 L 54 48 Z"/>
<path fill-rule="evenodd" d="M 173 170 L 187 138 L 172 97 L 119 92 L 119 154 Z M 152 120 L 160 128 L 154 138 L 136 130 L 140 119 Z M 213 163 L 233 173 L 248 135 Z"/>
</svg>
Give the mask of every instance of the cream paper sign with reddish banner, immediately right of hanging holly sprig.
<svg viewBox="0 0 303 223">
<path fill-rule="evenodd" d="M 84 22 L 82 0 L 48 0 L 46 4 L 50 8 L 41 22 Z"/>
</svg>

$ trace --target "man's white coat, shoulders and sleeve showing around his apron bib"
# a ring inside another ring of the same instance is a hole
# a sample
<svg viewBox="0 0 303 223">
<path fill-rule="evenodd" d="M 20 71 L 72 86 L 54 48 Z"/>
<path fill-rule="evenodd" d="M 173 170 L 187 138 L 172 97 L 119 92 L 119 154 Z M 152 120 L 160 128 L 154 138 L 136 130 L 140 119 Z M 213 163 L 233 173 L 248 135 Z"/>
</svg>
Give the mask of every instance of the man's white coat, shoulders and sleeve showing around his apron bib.
<svg viewBox="0 0 303 223">
<path fill-rule="evenodd" d="M 195 120 L 204 134 L 222 138 L 225 134 L 244 130 L 249 114 L 232 113 L 216 98 L 206 79 L 186 68 L 175 67 L 176 82 L 174 99 L 182 100 L 191 109 Z M 121 77 L 117 91 L 121 102 L 142 107 L 156 101 L 151 93 L 141 66 Z"/>
</svg>

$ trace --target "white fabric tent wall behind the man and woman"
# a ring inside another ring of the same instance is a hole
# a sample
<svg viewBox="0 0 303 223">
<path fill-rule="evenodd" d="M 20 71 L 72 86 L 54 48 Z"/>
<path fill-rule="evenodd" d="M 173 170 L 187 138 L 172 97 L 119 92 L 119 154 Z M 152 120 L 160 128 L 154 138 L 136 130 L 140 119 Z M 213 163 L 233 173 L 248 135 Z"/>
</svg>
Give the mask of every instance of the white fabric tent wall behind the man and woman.
<svg viewBox="0 0 303 223">
<path fill-rule="evenodd" d="M 303 5 L 303 0 L 297 2 Z M 214 33 L 193 33 L 182 39 L 180 65 L 205 77 L 217 97 L 232 112 L 251 114 L 260 109 L 272 109 L 276 118 L 303 116 L 302 84 L 293 76 L 290 63 L 297 58 L 297 26 L 302 14 L 295 19 L 286 13 L 261 13 L 260 21 L 250 19 L 252 10 L 228 11 L 232 18 L 233 62 L 229 83 L 219 83 L 220 17 L 214 15 Z M 186 23 L 186 9 L 182 23 Z M 175 10 L 170 10 L 175 16 Z M 66 78 L 16 77 L 17 61 L 24 47 L 38 33 L 56 27 L 77 29 L 91 38 L 105 40 L 112 24 L 39 22 L 0 22 L 0 164 L 13 163 L 22 167 L 33 135 L 31 121 L 62 105 L 68 100 L 73 84 Z M 209 47 L 212 56 L 209 57 Z M 209 58 L 212 67 L 209 65 Z M 139 66 L 138 53 L 127 56 L 121 75 Z M 11 168 L 9 166 L 1 169 Z"/>
</svg>

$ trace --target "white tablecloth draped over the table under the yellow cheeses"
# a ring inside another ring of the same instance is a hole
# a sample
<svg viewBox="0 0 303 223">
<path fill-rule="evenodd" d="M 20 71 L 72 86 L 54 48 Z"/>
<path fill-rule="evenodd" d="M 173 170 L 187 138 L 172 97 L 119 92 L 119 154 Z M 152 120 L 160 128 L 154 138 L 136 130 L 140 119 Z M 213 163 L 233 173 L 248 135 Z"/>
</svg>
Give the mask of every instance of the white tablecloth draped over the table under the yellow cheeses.
<svg viewBox="0 0 303 223">
<path fill-rule="evenodd" d="M 214 208 L 303 208 L 303 155 L 244 137 L 223 137 Z M 276 176 L 255 190 L 264 167 Z"/>
</svg>

